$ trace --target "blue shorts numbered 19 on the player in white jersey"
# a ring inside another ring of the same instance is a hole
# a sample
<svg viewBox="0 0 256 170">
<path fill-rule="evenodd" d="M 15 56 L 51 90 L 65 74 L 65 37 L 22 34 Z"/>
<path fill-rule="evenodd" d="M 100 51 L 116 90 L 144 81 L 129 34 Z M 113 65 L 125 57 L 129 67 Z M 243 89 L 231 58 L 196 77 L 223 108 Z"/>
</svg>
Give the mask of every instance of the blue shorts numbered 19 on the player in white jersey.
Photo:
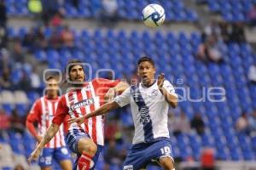
<svg viewBox="0 0 256 170">
<path fill-rule="evenodd" d="M 158 162 L 162 157 L 173 157 L 170 139 L 162 138 L 152 143 L 133 144 L 125 159 L 124 170 L 146 168 L 148 164 Z"/>
</svg>

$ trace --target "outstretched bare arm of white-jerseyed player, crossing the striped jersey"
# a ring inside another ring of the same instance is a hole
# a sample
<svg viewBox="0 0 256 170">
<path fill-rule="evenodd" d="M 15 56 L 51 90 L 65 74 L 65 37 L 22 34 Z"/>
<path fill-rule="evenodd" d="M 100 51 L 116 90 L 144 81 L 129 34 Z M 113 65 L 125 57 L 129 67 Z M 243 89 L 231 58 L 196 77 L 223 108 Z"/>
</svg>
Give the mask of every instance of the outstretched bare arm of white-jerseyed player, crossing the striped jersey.
<svg viewBox="0 0 256 170">
<path fill-rule="evenodd" d="M 99 109 L 96 111 L 92 111 L 89 114 L 86 114 L 85 116 L 71 118 L 68 120 L 68 123 L 71 124 L 73 122 L 77 122 L 79 125 L 84 122 L 85 119 L 88 119 L 92 116 L 99 116 L 108 113 L 109 111 L 112 111 L 114 109 L 119 108 L 119 105 L 115 101 L 108 102 L 107 104 L 102 105 Z"/>
</svg>

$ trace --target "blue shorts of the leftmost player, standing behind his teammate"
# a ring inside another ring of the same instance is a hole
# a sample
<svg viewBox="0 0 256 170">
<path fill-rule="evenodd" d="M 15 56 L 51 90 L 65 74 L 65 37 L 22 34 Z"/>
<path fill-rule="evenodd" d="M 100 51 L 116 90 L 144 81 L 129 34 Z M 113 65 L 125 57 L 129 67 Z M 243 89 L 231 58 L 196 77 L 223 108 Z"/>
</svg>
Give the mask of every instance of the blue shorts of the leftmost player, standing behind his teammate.
<svg viewBox="0 0 256 170">
<path fill-rule="evenodd" d="M 39 166 L 40 167 L 50 167 L 53 163 L 53 158 L 55 161 L 59 162 L 64 160 L 71 160 L 71 156 L 66 147 L 60 148 L 44 148 L 43 152 L 39 156 Z"/>
</svg>

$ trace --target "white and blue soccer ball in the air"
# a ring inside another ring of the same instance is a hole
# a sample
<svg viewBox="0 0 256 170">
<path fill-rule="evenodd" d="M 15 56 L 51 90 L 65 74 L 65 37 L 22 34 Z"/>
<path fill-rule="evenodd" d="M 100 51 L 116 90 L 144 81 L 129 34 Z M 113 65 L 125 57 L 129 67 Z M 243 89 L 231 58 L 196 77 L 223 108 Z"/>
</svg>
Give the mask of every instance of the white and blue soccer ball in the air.
<svg viewBox="0 0 256 170">
<path fill-rule="evenodd" d="M 166 19 L 165 9 L 159 4 L 149 4 L 143 8 L 143 22 L 148 27 L 157 27 L 164 23 Z"/>
</svg>

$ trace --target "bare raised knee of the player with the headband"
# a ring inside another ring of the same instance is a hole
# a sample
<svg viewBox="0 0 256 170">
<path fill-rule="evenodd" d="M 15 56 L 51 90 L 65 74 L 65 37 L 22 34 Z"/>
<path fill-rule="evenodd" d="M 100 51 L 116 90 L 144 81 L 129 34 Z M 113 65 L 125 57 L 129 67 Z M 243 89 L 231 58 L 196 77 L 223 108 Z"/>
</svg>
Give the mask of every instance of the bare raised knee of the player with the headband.
<svg viewBox="0 0 256 170">
<path fill-rule="evenodd" d="M 96 154 L 97 146 L 91 139 L 80 139 L 78 149 L 80 154 L 85 152 L 90 156 L 94 156 Z"/>
</svg>

